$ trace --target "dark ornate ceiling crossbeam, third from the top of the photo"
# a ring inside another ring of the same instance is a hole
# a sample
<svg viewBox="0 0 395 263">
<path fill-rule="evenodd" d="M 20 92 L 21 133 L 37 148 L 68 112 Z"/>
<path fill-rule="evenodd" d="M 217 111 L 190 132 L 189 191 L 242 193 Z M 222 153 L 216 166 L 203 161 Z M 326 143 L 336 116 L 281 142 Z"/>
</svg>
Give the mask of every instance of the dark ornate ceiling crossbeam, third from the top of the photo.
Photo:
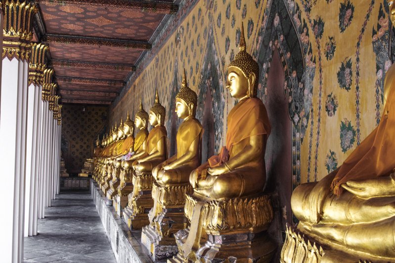
<svg viewBox="0 0 395 263">
<path fill-rule="evenodd" d="M 136 67 L 129 64 L 118 63 L 97 63 L 88 61 L 76 60 L 60 60 L 52 59 L 49 63 L 52 67 L 76 67 L 76 68 L 91 68 L 91 69 L 109 69 L 117 71 L 135 71 Z"/>
</svg>

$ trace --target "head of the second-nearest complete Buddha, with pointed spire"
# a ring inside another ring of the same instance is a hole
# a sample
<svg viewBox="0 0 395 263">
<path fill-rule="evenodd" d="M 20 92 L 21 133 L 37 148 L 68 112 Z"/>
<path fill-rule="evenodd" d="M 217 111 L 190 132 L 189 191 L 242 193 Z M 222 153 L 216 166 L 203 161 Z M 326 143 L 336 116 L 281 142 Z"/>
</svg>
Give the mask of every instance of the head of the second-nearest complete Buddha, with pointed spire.
<svg viewBox="0 0 395 263">
<path fill-rule="evenodd" d="M 186 82 L 186 72 L 182 77 L 181 89 L 176 95 L 176 114 L 178 118 L 195 117 L 197 106 L 197 95 L 188 87 Z"/>
</svg>

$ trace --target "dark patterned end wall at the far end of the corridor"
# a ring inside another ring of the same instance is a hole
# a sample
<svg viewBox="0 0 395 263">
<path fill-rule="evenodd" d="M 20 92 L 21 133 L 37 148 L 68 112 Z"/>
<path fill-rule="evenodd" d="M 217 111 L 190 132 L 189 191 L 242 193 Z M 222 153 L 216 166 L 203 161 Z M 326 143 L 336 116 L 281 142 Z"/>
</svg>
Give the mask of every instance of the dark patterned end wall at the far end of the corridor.
<svg viewBox="0 0 395 263">
<path fill-rule="evenodd" d="M 107 111 L 107 106 L 63 105 L 61 153 L 68 173 L 80 173 L 85 160 L 92 158 L 97 134 L 102 138 Z"/>
</svg>

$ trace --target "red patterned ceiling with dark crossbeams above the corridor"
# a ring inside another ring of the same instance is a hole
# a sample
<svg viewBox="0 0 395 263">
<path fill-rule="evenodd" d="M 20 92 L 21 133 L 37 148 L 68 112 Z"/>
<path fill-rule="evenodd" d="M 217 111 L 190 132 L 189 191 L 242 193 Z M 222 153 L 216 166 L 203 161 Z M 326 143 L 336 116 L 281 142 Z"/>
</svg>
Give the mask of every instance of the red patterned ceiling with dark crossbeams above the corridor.
<svg viewBox="0 0 395 263">
<path fill-rule="evenodd" d="M 34 41 L 49 45 L 63 103 L 109 105 L 155 32 L 178 6 L 173 0 L 36 0 Z"/>
</svg>

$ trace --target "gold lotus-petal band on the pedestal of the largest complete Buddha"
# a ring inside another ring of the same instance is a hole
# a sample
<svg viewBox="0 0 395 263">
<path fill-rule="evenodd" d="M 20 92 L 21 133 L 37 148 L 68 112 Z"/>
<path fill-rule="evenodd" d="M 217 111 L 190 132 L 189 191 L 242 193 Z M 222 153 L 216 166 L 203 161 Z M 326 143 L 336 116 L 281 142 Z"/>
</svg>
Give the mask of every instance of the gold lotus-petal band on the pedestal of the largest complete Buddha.
<svg viewBox="0 0 395 263">
<path fill-rule="evenodd" d="M 204 202 L 200 220 L 208 234 L 218 235 L 237 232 L 261 232 L 273 219 L 270 198 L 260 194 L 225 200 L 199 201 L 193 195 L 186 195 L 185 216 L 192 220 L 193 210 L 198 202 Z"/>
</svg>

